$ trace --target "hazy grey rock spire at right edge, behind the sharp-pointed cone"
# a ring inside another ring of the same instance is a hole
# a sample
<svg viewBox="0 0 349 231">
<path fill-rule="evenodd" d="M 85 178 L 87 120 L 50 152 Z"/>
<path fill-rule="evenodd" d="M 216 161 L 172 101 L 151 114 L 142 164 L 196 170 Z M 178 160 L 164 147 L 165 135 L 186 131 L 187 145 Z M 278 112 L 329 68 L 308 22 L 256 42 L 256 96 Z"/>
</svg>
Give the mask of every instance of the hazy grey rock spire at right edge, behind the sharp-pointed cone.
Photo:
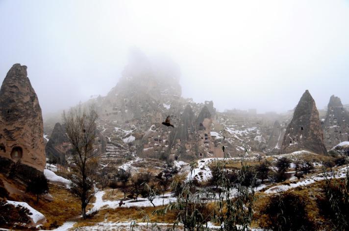
<svg viewBox="0 0 349 231">
<path fill-rule="evenodd" d="M 324 143 L 329 149 L 349 141 L 349 112 L 342 105 L 341 99 L 334 95 L 329 99 L 323 124 Z"/>
</svg>

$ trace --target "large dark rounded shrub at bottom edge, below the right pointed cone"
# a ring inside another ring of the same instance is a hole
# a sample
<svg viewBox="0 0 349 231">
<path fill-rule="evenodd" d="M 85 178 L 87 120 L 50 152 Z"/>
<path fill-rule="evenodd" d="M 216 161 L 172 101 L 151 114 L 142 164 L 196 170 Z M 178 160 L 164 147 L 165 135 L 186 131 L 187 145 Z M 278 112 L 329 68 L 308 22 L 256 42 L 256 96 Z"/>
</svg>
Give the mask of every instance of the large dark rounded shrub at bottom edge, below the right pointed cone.
<svg viewBox="0 0 349 231">
<path fill-rule="evenodd" d="M 273 195 L 264 209 L 260 227 L 272 231 L 314 230 L 305 209 L 306 198 L 286 191 Z"/>
</svg>

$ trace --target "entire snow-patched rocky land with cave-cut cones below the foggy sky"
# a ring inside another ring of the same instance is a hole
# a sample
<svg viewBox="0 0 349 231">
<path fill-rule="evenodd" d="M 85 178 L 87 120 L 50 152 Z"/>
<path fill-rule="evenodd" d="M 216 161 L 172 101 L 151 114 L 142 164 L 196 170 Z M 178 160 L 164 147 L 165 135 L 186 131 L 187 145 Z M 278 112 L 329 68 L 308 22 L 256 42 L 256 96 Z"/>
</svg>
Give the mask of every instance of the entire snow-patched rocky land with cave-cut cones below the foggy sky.
<svg viewBox="0 0 349 231">
<path fill-rule="evenodd" d="M 285 113 L 222 112 L 182 97 L 173 60 L 134 49 L 105 96 L 43 121 L 27 76 L 14 64 L 0 89 L 0 228 L 349 227 L 349 112 L 336 96 L 327 110 L 304 89 Z"/>
</svg>

